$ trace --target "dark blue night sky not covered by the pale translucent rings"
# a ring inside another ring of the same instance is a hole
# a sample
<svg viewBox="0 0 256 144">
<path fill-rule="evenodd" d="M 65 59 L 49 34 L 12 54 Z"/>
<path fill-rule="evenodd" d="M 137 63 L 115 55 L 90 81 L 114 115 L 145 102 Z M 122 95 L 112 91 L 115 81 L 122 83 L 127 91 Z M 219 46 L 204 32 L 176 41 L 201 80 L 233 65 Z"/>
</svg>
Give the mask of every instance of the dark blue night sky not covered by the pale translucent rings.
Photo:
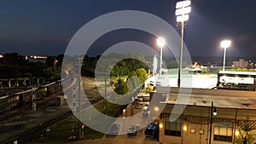
<svg viewBox="0 0 256 144">
<path fill-rule="evenodd" d="M 117 10 L 141 10 L 155 14 L 176 26 L 174 0 L 2 0 L 0 3 L 0 53 L 21 55 L 64 54 L 73 34 L 97 16 Z M 256 56 L 255 0 L 191 0 L 192 12 L 185 29 L 190 55 L 222 56 L 219 43 L 232 40 L 227 55 Z M 178 31 L 178 29 L 177 29 Z M 90 49 L 101 54 L 113 43 L 137 40 L 154 43 L 154 37 L 127 32 L 125 37 L 108 34 Z M 140 32 L 139 32 L 140 33 Z M 113 39 L 115 40 L 113 40 Z"/>
</svg>

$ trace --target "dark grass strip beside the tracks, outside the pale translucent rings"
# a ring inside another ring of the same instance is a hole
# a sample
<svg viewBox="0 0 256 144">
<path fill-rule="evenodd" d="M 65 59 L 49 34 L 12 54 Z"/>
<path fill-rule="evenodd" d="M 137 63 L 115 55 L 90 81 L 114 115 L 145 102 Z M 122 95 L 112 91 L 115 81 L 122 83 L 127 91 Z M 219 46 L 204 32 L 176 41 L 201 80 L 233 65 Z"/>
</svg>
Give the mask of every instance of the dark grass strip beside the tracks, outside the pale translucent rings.
<svg viewBox="0 0 256 144">
<path fill-rule="evenodd" d="M 107 105 L 108 105 L 108 115 L 112 117 L 118 117 L 122 109 L 126 107 L 123 105 L 113 104 L 109 101 Z M 105 108 L 102 106 L 103 106 L 102 102 L 99 102 L 94 107 L 99 112 L 105 113 Z M 90 112 L 90 110 L 86 111 L 87 114 L 88 112 Z M 113 122 L 110 122 L 110 123 L 113 123 Z M 50 131 L 46 132 L 47 129 Z M 44 142 L 44 143 L 66 143 L 69 141 L 79 141 L 79 119 L 74 116 L 65 118 L 60 122 L 49 126 L 49 128 L 47 129 L 43 130 L 42 132 L 38 131 L 38 134 L 37 134 L 38 139 L 36 141 Z M 104 135 L 103 133 L 98 132 L 96 130 L 91 130 L 86 125 L 84 125 L 84 130 L 82 130 L 82 134 L 83 133 L 84 133 L 84 138 L 83 138 L 84 140 L 100 139 Z M 41 134 L 43 134 L 43 136 L 41 136 Z"/>
</svg>

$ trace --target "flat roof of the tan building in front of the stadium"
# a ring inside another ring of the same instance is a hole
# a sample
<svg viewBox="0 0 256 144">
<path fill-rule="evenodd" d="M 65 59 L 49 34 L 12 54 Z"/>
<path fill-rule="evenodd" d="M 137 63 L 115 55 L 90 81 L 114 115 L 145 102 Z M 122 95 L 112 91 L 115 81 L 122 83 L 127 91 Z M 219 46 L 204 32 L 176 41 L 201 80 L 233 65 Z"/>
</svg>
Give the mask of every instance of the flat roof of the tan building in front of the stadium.
<svg viewBox="0 0 256 144">
<path fill-rule="evenodd" d="M 256 109 L 256 91 L 227 90 L 227 89 L 182 89 L 167 88 L 170 90 L 168 104 L 194 105 L 201 107 Z M 189 91 L 191 90 L 191 95 Z M 156 92 L 165 92 L 166 88 L 157 88 Z M 168 90 L 167 90 L 168 91 Z M 186 102 L 186 100 L 189 100 Z"/>
</svg>

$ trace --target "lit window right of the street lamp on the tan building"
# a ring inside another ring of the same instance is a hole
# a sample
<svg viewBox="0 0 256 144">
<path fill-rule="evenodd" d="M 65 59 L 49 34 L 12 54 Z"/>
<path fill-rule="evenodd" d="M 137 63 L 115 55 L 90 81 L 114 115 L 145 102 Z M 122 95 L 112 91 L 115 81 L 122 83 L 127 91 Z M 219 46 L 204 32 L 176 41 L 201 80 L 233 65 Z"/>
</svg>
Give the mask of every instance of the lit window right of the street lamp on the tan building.
<svg viewBox="0 0 256 144">
<path fill-rule="evenodd" d="M 214 141 L 232 142 L 233 124 L 215 123 L 214 124 Z"/>
</svg>

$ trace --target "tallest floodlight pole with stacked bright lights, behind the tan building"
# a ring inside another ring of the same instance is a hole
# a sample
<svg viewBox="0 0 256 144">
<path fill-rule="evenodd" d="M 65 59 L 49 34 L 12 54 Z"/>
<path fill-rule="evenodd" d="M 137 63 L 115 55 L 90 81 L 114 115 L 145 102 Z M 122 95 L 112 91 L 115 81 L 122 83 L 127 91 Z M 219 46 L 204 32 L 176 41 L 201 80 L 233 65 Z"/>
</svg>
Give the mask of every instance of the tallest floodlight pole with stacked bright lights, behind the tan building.
<svg viewBox="0 0 256 144">
<path fill-rule="evenodd" d="M 181 42 L 180 42 L 180 55 L 179 55 L 179 67 L 177 73 L 177 87 L 180 87 L 181 81 L 181 69 L 183 63 L 183 34 L 184 34 L 184 22 L 189 20 L 189 13 L 191 12 L 191 7 L 189 7 L 191 1 L 181 1 L 176 3 L 175 15 L 177 16 L 177 23 L 181 24 Z"/>
</svg>

